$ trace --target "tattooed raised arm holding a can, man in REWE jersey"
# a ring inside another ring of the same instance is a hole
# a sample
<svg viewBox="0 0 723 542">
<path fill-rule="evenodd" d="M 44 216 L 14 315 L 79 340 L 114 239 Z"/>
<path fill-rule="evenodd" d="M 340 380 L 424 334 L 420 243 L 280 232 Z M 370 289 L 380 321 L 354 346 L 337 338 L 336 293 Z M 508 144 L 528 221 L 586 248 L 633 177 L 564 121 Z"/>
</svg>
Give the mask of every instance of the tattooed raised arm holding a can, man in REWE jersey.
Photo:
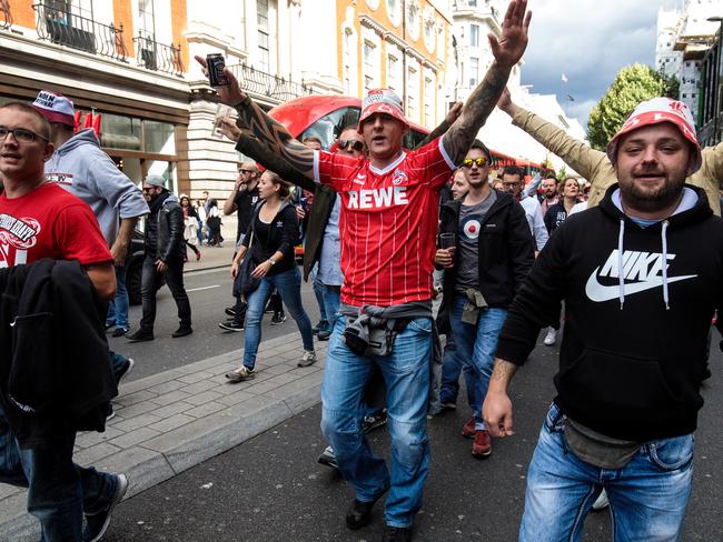
<svg viewBox="0 0 723 542">
<path fill-rule="evenodd" d="M 204 74 L 207 74 L 206 59 L 197 56 L 196 60 L 201 64 Z M 296 171 L 313 179 L 314 150 L 294 139 L 281 123 L 271 119 L 254 103 L 251 98 L 241 91 L 238 80 L 228 67 L 224 69 L 224 74 L 228 78 L 229 84 L 218 87 L 216 91 L 224 103 L 238 111 L 238 126 L 248 129 L 256 139 Z M 254 155 L 251 158 L 257 159 Z"/>
</svg>

